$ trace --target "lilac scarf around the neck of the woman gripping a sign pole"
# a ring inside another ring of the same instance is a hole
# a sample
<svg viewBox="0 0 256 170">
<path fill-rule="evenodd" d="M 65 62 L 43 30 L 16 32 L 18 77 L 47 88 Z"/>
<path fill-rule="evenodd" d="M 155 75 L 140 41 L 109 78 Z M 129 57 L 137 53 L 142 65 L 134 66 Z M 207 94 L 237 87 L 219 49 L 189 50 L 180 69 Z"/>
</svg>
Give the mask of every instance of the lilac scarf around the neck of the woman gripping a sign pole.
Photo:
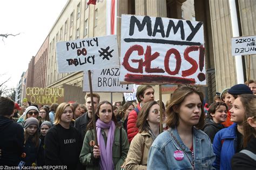
<svg viewBox="0 0 256 170">
<path fill-rule="evenodd" d="M 100 130 L 109 129 L 107 133 L 107 142 L 105 146 L 105 141 Z M 116 129 L 116 125 L 114 125 L 113 121 L 106 124 L 100 119 L 96 121 L 96 130 L 97 130 L 97 139 L 99 143 L 100 149 L 100 160 L 99 165 L 100 169 L 114 169 L 113 158 L 112 158 L 112 146 L 114 142 L 114 130 Z"/>
</svg>

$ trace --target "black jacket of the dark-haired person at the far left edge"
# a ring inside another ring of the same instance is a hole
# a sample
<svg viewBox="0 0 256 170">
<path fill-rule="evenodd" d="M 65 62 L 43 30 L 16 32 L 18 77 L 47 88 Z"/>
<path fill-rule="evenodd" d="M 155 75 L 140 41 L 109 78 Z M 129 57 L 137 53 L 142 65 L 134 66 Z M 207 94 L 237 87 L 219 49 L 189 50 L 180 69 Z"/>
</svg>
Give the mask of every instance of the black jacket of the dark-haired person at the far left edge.
<svg viewBox="0 0 256 170">
<path fill-rule="evenodd" d="M 0 139 L 0 165 L 17 166 L 23 153 L 23 127 L 9 118 L 0 116 Z"/>
</svg>

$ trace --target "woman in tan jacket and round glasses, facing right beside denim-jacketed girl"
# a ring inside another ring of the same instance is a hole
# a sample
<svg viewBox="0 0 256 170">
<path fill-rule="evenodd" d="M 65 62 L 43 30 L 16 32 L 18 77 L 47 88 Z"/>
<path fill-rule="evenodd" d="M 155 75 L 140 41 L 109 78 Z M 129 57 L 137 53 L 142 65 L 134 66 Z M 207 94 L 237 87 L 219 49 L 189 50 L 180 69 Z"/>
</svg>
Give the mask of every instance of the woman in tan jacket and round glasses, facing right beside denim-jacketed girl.
<svg viewBox="0 0 256 170">
<path fill-rule="evenodd" d="M 160 106 L 157 101 L 148 101 L 142 106 L 137 119 L 139 133 L 131 142 L 125 169 L 147 169 L 149 149 L 160 133 Z"/>
</svg>

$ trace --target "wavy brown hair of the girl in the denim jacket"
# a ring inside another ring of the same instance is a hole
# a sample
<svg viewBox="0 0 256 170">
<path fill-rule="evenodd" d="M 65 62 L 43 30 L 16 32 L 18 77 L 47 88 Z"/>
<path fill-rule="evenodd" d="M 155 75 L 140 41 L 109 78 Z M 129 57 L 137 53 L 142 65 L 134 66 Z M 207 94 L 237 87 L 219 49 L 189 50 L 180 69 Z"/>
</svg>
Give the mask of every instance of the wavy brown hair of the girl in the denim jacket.
<svg viewBox="0 0 256 170">
<path fill-rule="evenodd" d="M 181 103 L 185 100 L 187 96 L 190 94 L 196 93 L 200 97 L 200 101 L 202 103 L 201 105 L 201 116 L 199 118 L 199 122 L 197 125 L 195 125 L 196 128 L 201 129 L 204 127 L 204 119 L 205 119 L 205 113 L 204 113 L 204 94 L 198 90 L 197 87 L 192 85 L 182 85 L 179 86 L 178 89 L 174 91 L 172 94 L 172 98 L 170 100 L 169 106 L 166 108 L 166 125 L 174 128 L 179 125 L 179 113 L 176 113 L 174 111 L 174 107 L 179 108 Z"/>
</svg>

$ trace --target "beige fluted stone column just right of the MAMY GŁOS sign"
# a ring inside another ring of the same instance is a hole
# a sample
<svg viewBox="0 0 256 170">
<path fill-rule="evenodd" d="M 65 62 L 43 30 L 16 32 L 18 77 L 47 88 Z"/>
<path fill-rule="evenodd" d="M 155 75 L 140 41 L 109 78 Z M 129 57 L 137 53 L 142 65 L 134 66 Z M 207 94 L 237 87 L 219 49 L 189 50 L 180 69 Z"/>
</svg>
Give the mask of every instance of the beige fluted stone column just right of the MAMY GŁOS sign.
<svg viewBox="0 0 256 170">
<path fill-rule="evenodd" d="M 235 59 L 231 55 L 231 19 L 228 0 L 210 0 L 213 53 L 217 91 L 236 83 Z"/>
</svg>

